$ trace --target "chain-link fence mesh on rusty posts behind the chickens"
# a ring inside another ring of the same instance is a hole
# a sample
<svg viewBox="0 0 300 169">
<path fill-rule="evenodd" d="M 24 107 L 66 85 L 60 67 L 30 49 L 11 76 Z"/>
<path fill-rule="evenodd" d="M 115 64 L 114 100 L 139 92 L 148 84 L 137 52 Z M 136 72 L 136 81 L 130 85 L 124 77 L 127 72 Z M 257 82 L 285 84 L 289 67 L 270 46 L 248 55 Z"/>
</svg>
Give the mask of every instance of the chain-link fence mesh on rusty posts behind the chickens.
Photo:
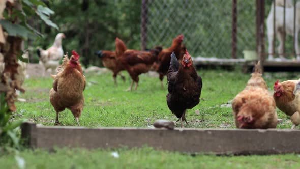
<svg viewBox="0 0 300 169">
<path fill-rule="evenodd" d="M 142 43 L 146 41 L 148 48 L 169 47 L 174 37 L 183 34 L 184 44 L 193 55 L 231 58 L 232 35 L 235 34 L 232 31 L 233 2 L 144 0 L 141 33 L 146 40 L 142 38 Z M 255 1 L 237 1 L 236 7 L 237 58 L 241 58 L 243 50 L 256 49 L 256 5 Z"/>
</svg>

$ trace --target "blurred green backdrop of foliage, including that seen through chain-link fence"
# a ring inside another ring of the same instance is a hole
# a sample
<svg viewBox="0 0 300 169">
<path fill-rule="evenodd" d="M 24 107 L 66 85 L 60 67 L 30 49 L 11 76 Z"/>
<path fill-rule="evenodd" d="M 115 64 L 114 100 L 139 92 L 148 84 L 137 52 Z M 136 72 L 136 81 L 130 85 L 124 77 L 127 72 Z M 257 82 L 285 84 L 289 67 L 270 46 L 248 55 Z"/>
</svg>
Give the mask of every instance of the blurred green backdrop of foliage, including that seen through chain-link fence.
<svg viewBox="0 0 300 169">
<path fill-rule="evenodd" d="M 94 52 L 114 50 L 116 37 L 131 49 L 142 48 L 142 19 L 146 26 L 146 48 L 169 47 L 179 34 L 184 44 L 197 57 L 231 58 L 232 7 L 229 0 L 80 0 L 44 1 L 55 14 L 51 20 L 59 31 L 32 18 L 30 23 L 44 37 L 28 41 L 33 49 L 31 62 L 38 62 L 35 47 L 50 47 L 58 32 L 63 32 L 64 51 L 77 50 L 84 57 L 84 66 L 101 66 Z M 237 1 L 237 58 L 243 50 L 256 48 L 256 1 Z M 272 1 L 265 1 L 265 19 Z M 145 29 L 145 28 L 144 28 Z M 265 31 L 266 32 L 266 31 Z M 265 45 L 267 43 L 265 35 Z M 286 42 L 292 42 L 286 36 Z M 267 45 L 266 45 L 267 46 Z M 286 43 L 286 51 L 292 43 Z"/>
</svg>

